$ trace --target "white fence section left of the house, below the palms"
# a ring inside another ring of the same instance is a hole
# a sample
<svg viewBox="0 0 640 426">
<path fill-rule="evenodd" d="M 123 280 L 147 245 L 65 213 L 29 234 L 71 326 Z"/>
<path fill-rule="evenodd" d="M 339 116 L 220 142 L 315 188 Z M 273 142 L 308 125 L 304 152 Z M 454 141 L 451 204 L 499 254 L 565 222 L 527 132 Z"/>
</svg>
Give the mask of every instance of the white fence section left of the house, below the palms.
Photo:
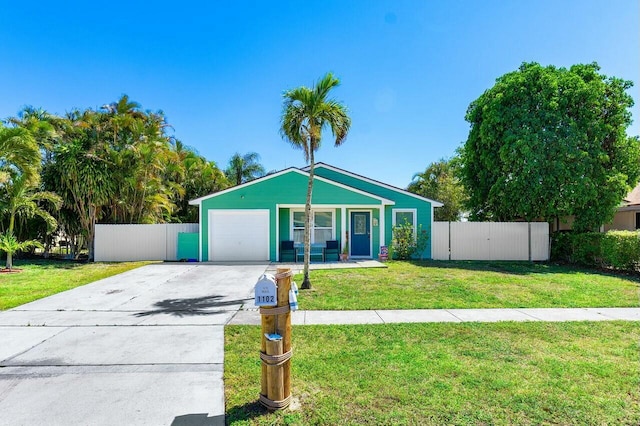
<svg viewBox="0 0 640 426">
<path fill-rule="evenodd" d="M 96 262 L 178 260 L 178 233 L 198 232 L 197 223 L 96 225 Z"/>
</svg>

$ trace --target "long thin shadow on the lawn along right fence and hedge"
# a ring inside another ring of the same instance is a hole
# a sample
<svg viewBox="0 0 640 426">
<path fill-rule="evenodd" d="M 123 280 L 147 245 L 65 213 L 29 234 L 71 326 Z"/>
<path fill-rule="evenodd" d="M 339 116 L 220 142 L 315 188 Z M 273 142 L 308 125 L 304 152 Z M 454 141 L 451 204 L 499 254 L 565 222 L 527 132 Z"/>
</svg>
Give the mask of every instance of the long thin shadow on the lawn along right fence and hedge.
<svg viewBox="0 0 640 426">
<path fill-rule="evenodd" d="M 414 266 L 441 269 L 462 269 L 467 271 L 499 272 L 511 275 L 532 274 L 591 274 L 606 277 L 618 277 L 640 282 L 640 275 L 622 271 L 605 271 L 578 265 L 564 265 L 549 262 L 527 261 L 480 261 L 480 260 L 410 260 Z"/>
</svg>

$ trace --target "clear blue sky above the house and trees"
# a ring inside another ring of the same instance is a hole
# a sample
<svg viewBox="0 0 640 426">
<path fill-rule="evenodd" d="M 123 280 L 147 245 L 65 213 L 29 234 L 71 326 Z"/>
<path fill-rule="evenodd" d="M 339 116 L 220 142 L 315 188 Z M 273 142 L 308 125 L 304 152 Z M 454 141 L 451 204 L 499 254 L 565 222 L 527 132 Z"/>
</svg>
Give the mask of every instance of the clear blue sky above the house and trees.
<svg viewBox="0 0 640 426">
<path fill-rule="evenodd" d="M 0 118 L 126 93 L 220 167 L 258 152 L 304 166 L 282 93 L 332 71 L 352 117 L 317 161 L 405 187 L 467 137 L 466 109 L 522 62 L 596 61 L 640 102 L 637 0 L 13 2 L 0 0 Z M 634 106 L 629 134 L 640 134 Z"/>
</svg>

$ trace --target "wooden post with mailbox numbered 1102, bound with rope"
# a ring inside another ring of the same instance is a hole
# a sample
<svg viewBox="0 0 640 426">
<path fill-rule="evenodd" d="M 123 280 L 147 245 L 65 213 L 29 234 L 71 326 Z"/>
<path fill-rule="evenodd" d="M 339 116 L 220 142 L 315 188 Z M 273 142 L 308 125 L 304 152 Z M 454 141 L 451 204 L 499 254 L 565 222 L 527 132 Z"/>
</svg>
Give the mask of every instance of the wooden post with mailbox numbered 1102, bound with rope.
<svg viewBox="0 0 640 426">
<path fill-rule="evenodd" d="M 260 403 L 269 410 L 281 410 L 291 403 L 291 311 L 289 290 L 291 276 L 289 268 L 278 268 L 273 289 L 263 276 L 256 284 L 256 305 L 262 316 L 262 383 Z M 276 292 L 276 300 L 271 299 Z M 274 305 L 275 303 L 275 305 Z"/>
</svg>

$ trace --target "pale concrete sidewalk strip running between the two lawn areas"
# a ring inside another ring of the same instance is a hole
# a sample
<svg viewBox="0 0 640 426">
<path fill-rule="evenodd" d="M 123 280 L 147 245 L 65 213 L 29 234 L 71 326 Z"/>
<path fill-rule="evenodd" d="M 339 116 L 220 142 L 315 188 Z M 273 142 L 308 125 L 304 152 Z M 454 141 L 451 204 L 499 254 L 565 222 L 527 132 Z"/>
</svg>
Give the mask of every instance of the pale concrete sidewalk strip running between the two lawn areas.
<svg viewBox="0 0 640 426">
<path fill-rule="evenodd" d="M 410 309 L 372 311 L 296 311 L 293 325 L 394 324 L 499 321 L 640 321 L 640 308 Z M 238 311 L 229 325 L 258 325 L 260 313 Z"/>
</svg>

